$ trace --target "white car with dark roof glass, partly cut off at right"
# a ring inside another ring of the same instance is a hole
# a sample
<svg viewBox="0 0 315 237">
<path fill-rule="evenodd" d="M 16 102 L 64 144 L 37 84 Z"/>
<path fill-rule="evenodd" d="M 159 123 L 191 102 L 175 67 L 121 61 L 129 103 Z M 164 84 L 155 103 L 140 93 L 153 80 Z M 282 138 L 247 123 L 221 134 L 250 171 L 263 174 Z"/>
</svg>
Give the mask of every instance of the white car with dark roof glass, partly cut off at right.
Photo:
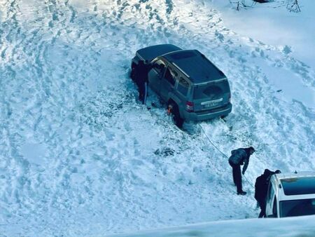
<svg viewBox="0 0 315 237">
<path fill-rule="evenodd" d="M 266 215 L 315 215 L 315 172 L 272 175 L 267 192 Z"/>
</svg>

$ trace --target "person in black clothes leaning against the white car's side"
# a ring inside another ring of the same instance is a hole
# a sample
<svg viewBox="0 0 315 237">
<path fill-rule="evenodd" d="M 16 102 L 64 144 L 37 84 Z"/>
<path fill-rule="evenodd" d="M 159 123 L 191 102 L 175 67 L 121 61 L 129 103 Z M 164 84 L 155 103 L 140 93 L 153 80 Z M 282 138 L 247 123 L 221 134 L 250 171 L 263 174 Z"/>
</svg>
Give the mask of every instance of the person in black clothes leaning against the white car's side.
<svg viewBox="0 0 315 237">
<path fill-rule="evenodd" d="M 257 200 L 260 207 L 258 218 L 266 217 L 266 198 L 270 177 L 274 174 L 279 174 L 280 172 L 280 170 L 273 172 L 271 170 L 265 169 L 264 173 L 256 179 L 255 199 Z"/>
</svg>

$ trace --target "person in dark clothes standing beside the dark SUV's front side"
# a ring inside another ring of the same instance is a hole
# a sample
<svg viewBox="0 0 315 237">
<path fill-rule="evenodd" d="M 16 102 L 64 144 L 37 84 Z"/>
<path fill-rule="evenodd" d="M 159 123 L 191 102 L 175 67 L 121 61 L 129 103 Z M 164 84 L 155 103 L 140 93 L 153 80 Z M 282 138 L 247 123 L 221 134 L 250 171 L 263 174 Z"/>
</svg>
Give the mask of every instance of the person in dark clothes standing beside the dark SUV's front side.
<svg viewBox="0 0 315 237">
<path fill-rule="evenodd" d="M 151 66 L 148 63 L 144 63 L 143 60 L 138 62 L 135 69 L 135 80 L 139 90 L 139 100 L 142 104 L 146 103 L 146 97 L 148 95 L 148 72 Z"/>
</svg>

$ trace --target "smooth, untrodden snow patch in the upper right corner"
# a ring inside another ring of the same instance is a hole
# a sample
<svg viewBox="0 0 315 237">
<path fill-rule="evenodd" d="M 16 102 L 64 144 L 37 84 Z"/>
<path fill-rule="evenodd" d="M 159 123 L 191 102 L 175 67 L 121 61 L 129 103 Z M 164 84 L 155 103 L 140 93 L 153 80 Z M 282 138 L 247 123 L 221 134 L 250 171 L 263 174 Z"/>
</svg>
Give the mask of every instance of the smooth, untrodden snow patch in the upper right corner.
<svg viewBox="0 0 315 237">
<path fill-rule="evenodd" d="M 245 1 L 248 8 L 235 8 L 228 1 L 212 0 L 222 13 L 226 27 L 243 36 L 249 36 L 279 47 L 286 53 L 315 68 L 315 2 L 300 0 L 301 12 L 290 12 L 283 1 L 265 4 Z"/>
</svg>

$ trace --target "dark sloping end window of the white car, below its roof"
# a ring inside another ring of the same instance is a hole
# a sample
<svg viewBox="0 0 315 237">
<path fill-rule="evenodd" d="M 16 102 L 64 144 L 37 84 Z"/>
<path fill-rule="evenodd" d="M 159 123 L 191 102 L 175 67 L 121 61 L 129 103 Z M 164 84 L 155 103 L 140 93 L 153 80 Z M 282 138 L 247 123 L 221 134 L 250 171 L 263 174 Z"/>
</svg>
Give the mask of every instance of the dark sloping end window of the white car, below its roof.
<svg viewBox="0 0 315 237">
<path fill-rule="evenodd" d="M 281 217 L 315 215 L 315 198 L 280 202 Z"/>
</svg>

